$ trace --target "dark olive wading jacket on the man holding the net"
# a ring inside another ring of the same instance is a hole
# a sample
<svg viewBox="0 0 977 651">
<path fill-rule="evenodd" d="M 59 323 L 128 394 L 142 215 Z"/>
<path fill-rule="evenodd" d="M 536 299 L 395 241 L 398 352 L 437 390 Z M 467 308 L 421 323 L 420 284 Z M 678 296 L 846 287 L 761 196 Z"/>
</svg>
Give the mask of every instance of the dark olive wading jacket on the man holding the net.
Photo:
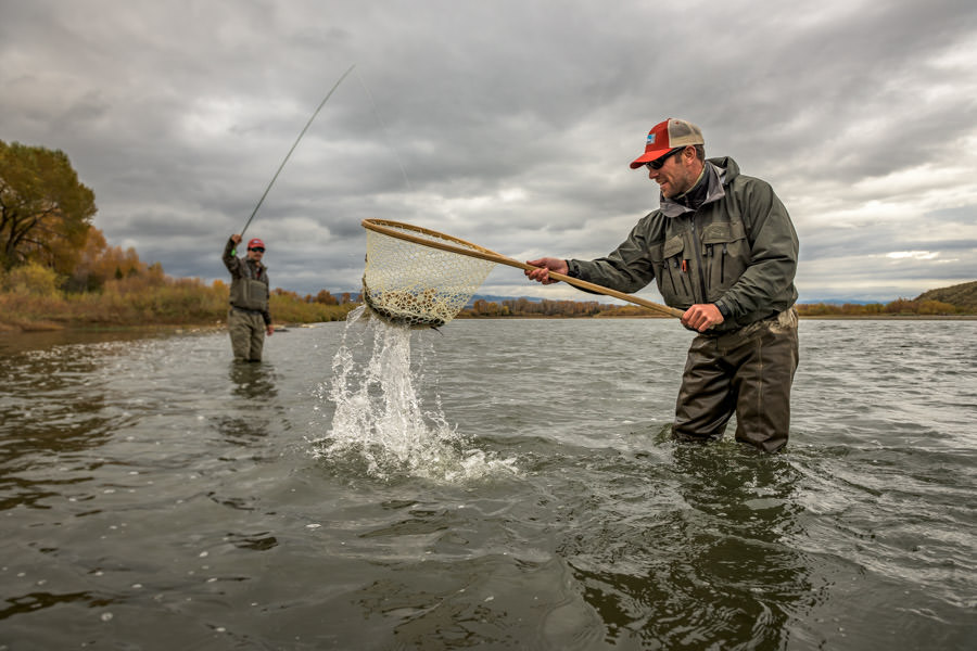
<svg viewBox="0 0 977 651">
<path fill-rule="evenodd" d="M 710 158 L 705 202 L 693 209 L 662 197 L 607 257 L 567 260 L 570 276 L 633 293 L 651 280 L 671 307 L 713 303 L 729 332 L 797 301 L 797 233 L 769 183 L 739 174 L 733 158 Z"/>
</svg>

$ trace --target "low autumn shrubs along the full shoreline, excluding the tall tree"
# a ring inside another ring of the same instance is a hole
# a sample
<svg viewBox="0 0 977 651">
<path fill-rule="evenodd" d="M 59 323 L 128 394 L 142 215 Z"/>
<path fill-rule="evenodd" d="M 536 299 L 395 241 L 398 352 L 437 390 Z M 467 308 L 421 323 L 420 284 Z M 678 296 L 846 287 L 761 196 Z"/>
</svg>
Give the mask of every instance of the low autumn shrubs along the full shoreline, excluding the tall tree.
<svg viewBox="0 0 977 651">
<path fill-rule="evenodd" d="M 206 284 L 196 278 L 170 278 L 158 264 L 122 267 L 109 278 L 60 277 L 54 270 L 28 263 L 0 271 L 0 333 L 63 329 L 111 330 L 154 327 L 214 327 L 227 321 L 228 284 Z M 74 283 L 73 283 L 74 281 Z M 73 291 L 74 289 L 74 291 Z M 951 298 L 954 303 L 946 299 Z M 932 290 L 914 299 L 880 304 L 799 304 L 801 318 L 820 319 L 977 319 L 977 281 Z M 957 303 L 960 302 L 960 303 Z M 361 305 L 359 295 L 333 296 L 322 290 L 315 296 L 275 289 L 270 311 L 276 327 L 341 321 Z M 597 301 L 500 302 L 478 299 L 458 315 L 480 318 L 670 318 L 632 305 Z"/>
</svg>

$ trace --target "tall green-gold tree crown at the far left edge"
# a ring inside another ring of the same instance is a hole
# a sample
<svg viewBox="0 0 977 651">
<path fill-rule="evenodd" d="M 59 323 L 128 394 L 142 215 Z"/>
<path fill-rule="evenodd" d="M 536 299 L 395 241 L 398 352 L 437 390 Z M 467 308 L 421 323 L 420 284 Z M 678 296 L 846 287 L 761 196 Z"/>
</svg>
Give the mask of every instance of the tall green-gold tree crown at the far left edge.
<svg viewBox="0 0 977 651">
<path fill-rule="evenodd" d="M 64 152 L 0 140 L 0 267 L 71 273 L 96 210 Z"/>
</svg>

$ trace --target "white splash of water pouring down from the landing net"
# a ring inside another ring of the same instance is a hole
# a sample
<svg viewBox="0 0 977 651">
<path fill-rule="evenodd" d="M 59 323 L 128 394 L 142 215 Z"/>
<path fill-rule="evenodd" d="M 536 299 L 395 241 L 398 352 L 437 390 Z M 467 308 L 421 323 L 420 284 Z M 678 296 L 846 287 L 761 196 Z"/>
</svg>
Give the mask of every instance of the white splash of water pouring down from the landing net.
<svg viewBox="0 0 977 651">
<path fill-rule="evenodd" d="M 314 455 L 366 463 L 372 476 L 420 476 L 455 482 L 516 472 L 515 459 L 480 450 L 449 425 L 440 405 L 426 410 L 415 387 L 409 328 L 368 318 L 359 307 L 346 319 L 332 360 L 332 382 L 319 395 L 335 404 L 332 430 L 313 442 Z"/>
</svg>

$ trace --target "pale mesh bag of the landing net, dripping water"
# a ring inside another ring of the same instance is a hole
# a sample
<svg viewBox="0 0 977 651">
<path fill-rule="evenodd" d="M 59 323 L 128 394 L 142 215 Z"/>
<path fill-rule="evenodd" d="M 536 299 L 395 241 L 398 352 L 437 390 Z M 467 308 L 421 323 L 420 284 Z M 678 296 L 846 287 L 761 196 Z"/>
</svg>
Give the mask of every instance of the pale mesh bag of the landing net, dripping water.
<svg viewBox="0 0 977 651">
<path fill-rule="evenodd" d="M 378 224 L 391 231 L 430 242 L 441 241 L 459 248 L 487 251 L 409 225 Z M 375 315 L 391 323 L 437 328 L 461 311 L 493 267 L 493 261 L 367 229 L 363 299 Z"/>
</svg>

